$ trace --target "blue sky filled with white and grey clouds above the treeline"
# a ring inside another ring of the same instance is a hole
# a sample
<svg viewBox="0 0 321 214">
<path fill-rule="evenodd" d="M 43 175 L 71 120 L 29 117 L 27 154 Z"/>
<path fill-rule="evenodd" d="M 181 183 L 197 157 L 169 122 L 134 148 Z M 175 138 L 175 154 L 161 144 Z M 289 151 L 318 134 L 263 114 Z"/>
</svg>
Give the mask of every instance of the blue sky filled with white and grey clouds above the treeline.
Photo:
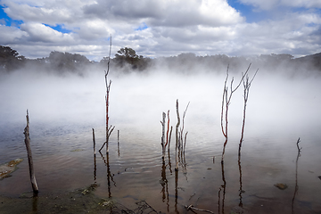
<svg viewBox="0 0 321 214">
<path fill-rule="evenodd" d="M 121 47 L 157 58 L 321 52 L 321 0 L 0 0 L 0 45 L 89 60 Z"/>
</svg>

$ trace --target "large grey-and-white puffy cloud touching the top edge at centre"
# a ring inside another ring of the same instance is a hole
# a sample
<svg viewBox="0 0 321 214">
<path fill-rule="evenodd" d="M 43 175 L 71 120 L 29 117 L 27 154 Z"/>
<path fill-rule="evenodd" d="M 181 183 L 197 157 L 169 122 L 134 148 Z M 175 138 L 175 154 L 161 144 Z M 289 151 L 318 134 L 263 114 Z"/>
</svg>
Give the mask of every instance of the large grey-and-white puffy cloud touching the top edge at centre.
<svg viewBox="0 0 321 214">
<path fill-rule="evenodd" d="M 100 0 L 84 6 L 84 12 L 103 20 L 144 21 L 147 25 L 178 28 L 229 25 L 243 21 L 225 0 Z"/>
</svg>

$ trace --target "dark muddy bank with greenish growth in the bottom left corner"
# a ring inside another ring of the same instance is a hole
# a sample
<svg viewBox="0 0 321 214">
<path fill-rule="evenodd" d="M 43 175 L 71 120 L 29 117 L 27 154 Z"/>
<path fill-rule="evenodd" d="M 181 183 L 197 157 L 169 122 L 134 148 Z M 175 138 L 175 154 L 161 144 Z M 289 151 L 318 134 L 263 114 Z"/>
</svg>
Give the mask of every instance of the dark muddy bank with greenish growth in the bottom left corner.
<svg viewBox="0 0 321 214">
<path fill-rule="evenodd" d="M 159 213 L 147 202 L 136 202 L 134 210 L 129 210 L 112 199 L 95 196 L 93 184 L 86 188 L 71 192 L 42 194 L 22 193 L 19 198 L 9 198 L 0 195 L 0 213 Z"/>
</svg>

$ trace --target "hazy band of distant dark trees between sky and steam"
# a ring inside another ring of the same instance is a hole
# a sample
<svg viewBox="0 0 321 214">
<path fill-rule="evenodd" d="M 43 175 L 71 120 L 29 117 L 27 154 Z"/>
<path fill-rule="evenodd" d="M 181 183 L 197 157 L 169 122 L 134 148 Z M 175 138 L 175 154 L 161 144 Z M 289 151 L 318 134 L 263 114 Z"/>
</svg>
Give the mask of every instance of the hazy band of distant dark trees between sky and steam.
<svg viewBox="0 0 321 214">
<path fill-rule="evenodd" d="M 109 58 L 103 57 L 100 62 L 89 61 L 86 56 L 78 53 L 62 53 L 53 51 L 48 57 L 28 59 L 12 50 L 9 46 L 0 45 L 0 72 L 32 69 L 47 70 L 57 73 L 75 72 L 78 74 L 95 68 L 106 68 Z M 151 59 L 137 55 L 132 48 L 121 48 L 114 58 L 111 58 L 111 69 L 121 72 L 166 69 L 177 72 L 191 73 L 199 70 L 221 71 L 229 65 L 231 70 L 245 68 L 252 63 L 260 70 L 288 70 L 292 73 L 315 72 L 321 74 L 321 53 L 295 58 L 290 54 L 261 54 L 259 56 L 229 57 L 225 54 L 196 56 L 194 53 L 181 53 L 177 56 Z"/>
</svg>

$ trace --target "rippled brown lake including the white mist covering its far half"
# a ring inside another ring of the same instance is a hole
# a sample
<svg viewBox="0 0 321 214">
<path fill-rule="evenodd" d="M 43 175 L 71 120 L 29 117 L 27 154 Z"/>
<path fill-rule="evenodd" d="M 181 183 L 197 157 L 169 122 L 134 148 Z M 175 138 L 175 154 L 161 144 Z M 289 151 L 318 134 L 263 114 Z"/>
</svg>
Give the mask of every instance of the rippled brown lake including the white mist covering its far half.
<svg viewBox="0 0 321 214">
<path fill-rule="evenodd" d="M 241 73 L 232 76 L 236 85 Z M 28 109 L 40 195 L 96 183 L 100 186 L 95 195 L 129 209 L 144 200 L 164 213 L 185 213 L 185 206 L 191 204 L 214 213 L 321 212 L 321 78 L 285 78 L 259 71 L 250 89 L 238 164 L 243 121 L 240 86 L 229 106 L 223 169 L 224 70 L 120 76 L 111 71 L 110 78 L 109 123 L 115 129 L 106 164 L 104 148 L 103 156 L 96 152 L 94 157 L 92 138 L 95 128 L 98 151 L 105 141 L 103 71 L 85 77 L 22 72 L 1 77 L 0 164 L 17 158 L 24 161 L 12 177 L 0 180 L 0 195 L 19 197 L 32 190 L 23 135 Z M 180 164 L 176 174 L 177 99 L 181 117 L 190 104 L 185 115 L 185 165 Z M 168 110 L 173 133 L 170 155 L 166 153 L 163 164 L 160 121 Z M 302 149 L 297 159 L 299 137 Z M 276 184 L 287 188 L 281 190 Z"/>
</svg>

